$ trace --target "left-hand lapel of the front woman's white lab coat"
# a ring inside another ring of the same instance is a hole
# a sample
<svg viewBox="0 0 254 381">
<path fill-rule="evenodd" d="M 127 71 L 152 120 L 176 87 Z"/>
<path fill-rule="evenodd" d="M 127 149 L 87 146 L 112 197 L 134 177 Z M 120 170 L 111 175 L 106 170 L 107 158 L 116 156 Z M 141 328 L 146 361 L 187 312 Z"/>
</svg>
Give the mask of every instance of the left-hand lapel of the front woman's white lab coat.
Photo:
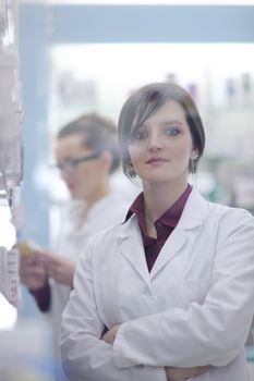
<svg viewBox="0 0 254 381">
<path fill-rule="evenodd" d="M 147 286 L 150 287 L 150 276 L 147 269 L 142 235 L 135 216 L 125 223 L 122 233 L 120 237 L 121 255 L 125 257 L 137 274 L 145 281 Z"/>
</svg>

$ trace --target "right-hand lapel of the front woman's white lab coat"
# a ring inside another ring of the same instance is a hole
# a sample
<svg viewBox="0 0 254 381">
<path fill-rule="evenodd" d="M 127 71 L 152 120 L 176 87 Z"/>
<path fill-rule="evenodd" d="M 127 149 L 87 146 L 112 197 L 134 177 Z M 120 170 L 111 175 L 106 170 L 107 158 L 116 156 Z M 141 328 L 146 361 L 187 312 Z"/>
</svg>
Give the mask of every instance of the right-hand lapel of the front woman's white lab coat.
<svg viewBox="0 0 254 381">
<path fill-rule="evenodd" d="M 181 219 L 166 241 L 162 249 L 157 257 L 155 265 L 150 271 L 153 279 L 176 255 L 184 249 L 189 236 L 194 234 L 194 229 L 199 226 L 207 213 L 208 202 L 193 188 L 185 207 L 183 209 Z"/>
</svg>

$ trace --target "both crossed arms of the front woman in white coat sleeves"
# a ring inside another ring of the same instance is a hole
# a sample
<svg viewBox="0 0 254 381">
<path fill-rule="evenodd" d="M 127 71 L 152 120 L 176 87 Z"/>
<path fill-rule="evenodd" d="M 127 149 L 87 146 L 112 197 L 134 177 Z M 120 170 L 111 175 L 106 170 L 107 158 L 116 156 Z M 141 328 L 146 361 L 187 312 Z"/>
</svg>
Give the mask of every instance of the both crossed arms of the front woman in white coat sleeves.
<svg viewBox="0 0 254 381">
<path fill-rule="evenodd" d="M 231 362 L 243 351 L 253 315 L 253 239 L 250 224 L 221 239 L 203 305 L 123 322 L 102 340 L 104 308 L 98 312 L 94 293 L 98 284 L 93 269 L 98 263 L 90 245 L 80 259 L 62 319 L 60 345 L 70 380 L 84 381 L 84 374 L 87 380 L 179 380 L 207 371 L 208 365 Z"/>
</svg>

